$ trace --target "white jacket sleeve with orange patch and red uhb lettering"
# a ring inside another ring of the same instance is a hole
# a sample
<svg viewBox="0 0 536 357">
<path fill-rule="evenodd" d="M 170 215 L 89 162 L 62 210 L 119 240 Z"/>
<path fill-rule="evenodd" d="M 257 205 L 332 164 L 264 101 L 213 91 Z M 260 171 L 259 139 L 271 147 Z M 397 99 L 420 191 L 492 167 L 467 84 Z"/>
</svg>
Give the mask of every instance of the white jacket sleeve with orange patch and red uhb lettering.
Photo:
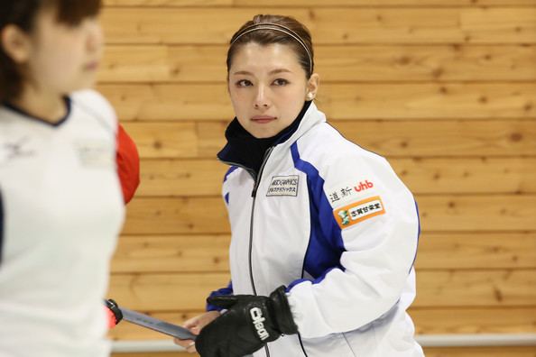
<svg viewBox="0 0 536 357">
<path fill-rule="evenodd" d="M 337 266 L 288 288 L 300 334 L 313 338 L 355 330 L 397 304 L 412 283 L 420 228 L 410 191 L 372 153 L 330 160 L 308 185 L 311 224 L 340 252 Z"/>
</svg>

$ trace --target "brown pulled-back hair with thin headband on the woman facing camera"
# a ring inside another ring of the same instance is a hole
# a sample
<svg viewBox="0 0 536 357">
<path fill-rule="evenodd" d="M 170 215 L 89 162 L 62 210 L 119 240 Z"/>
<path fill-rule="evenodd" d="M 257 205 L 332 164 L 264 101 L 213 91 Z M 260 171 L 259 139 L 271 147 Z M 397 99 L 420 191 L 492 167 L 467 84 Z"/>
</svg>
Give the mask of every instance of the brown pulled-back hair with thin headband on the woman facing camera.
<svg viewBox="0 0 536 357">
<path fill-rule="evenodd" d="M 266 28 L 260 26 L 261 24 L 266 24 Z M 275 25 L 270 26 L 270 24 Z M 254 30 L 255 25 L 260 29 Z M 280 29 L 281 31 L 274 29 Z M 288 30 L 290 30 L 291 34 L 288 33 Z M 298 39 L 295 39 L 293 35 L 296 35 Z M 226 62 L 227 73 L 231 68 L 236 51 L 240 46 L 249 42 L 260 45 L 282 43 L 291 46 L 298 55 L 298 60 L 301 67 L 305 70 L 307 78 L 310 78 L 312 75 L 314 69 L 314 53 L 310 32 L 305 25 L 293 17 L 277 14 L 257 14 L 253 20 L 242 25 L 229 42 Z"/>
</svg>

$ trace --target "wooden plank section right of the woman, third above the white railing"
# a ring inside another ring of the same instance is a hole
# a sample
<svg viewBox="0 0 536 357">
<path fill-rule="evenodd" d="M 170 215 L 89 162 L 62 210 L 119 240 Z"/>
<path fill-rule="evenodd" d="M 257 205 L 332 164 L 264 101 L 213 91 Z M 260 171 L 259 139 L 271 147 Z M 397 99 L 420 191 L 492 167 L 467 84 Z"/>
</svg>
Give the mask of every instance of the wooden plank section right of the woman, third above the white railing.
<svg viewBox="0 0 536 357">
<path fill-rule="evenodd" d="M 417 270 L 533 269 L 536 233 L 423 233 L 415 266 Z"/>
</svg>

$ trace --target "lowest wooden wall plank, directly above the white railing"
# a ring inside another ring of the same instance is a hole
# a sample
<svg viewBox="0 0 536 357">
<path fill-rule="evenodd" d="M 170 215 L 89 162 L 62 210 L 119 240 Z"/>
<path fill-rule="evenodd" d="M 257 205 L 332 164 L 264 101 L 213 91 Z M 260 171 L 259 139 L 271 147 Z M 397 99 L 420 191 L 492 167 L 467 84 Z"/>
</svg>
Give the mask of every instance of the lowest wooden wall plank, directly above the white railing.
<svg viewBox="0 0 536 357">
<path fill-rule="evenodd" d="M 181 325 L 199 311 L 149 312 L 164 321 Z M 417 334 L 534 334 L 536 307 L 448 307 L 409 310 Z M 120 324 L 110 331 L 114 340 L 162 340 L 166 336 L 132 324 Z"/>
</svg>

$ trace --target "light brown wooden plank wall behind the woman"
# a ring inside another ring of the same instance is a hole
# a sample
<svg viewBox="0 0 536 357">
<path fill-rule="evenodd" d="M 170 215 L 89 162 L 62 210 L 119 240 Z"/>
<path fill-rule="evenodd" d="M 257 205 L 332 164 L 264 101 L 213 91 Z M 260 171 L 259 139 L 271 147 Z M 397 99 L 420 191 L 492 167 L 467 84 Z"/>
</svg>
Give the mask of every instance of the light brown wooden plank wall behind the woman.
<svg viewBox="0 0 536 357">
<path fill-rule="evenodd" d="M 319 108 L 420 205 L 417 333 L 536 333 L 536 0 L 105 3 L 98 89 L 142 156 L 110 297 L 180 323 L 226 284 L 226 41 L 254 14 L 290 14 L 313 33 Z M 128 324 L 111 335 L 162 338 Z"/>
</svg>

